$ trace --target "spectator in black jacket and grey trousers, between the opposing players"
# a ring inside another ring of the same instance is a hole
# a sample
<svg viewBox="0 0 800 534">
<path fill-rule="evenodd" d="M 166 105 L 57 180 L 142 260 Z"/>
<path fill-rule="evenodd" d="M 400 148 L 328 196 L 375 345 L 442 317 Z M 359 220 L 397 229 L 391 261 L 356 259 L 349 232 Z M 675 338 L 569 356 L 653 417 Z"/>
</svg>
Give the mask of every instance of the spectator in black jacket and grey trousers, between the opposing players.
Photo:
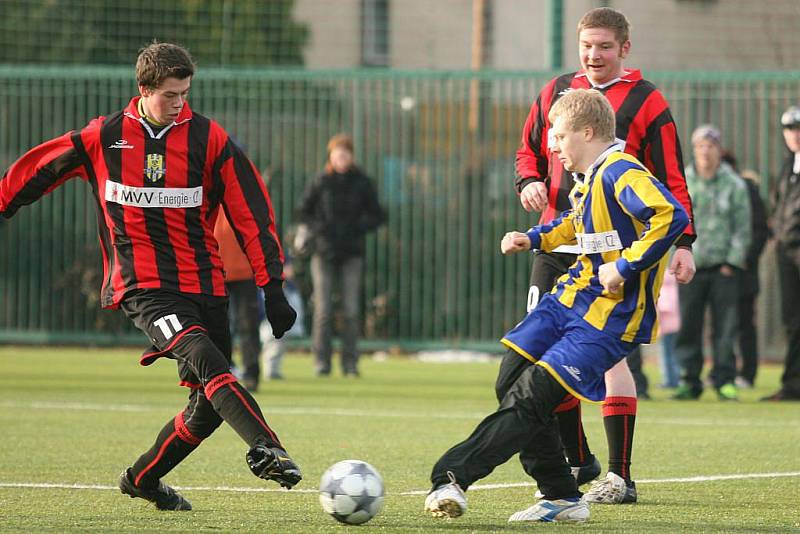
<svg viewBox="0 0 800 534">
<path fill-rule="evenodd" d="M 325 173 L 306 186 L 300 221 L 312 240 L 314 286 L 313 346 L 317 376 L 331 373 L 333 293 L 339 288 L 343 313 L 342 373 L 358 376 L 361 280 L 367 232 L 383 224 L 372 180 L 354 164 L 353 140 L 346 134 L 328 141 Z"/>
</svg>

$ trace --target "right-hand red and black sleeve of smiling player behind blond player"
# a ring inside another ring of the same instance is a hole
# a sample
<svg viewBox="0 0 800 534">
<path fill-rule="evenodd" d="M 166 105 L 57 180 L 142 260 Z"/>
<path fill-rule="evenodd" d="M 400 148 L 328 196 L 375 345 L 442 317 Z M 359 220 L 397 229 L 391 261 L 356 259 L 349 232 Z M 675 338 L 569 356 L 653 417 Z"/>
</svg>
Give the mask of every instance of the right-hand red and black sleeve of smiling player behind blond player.
<svg viewBox="0 0 800 534">
<path fill-rule="evenodd" d="M 689 189 L 686 187 L 681 144 L 669 105 L 658 91 L 653 91 L 648 99 L 647 118 L 647 146 L 642 163 L 667 186 L 686 210 L 689 225 L 676 244 L 691 244 L 696 237 L 694 211 Z"/>
</svg>

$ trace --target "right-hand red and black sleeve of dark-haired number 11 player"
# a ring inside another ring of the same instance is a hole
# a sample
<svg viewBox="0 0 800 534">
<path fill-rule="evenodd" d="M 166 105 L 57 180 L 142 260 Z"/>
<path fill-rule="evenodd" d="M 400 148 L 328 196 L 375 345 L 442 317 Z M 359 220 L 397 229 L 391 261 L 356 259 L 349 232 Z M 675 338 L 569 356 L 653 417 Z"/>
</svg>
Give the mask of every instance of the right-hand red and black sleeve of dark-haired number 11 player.
<svg viewBox="0 0 800 534">
<path fill-rule="evenodd" d="M 217 127 L 219 128 L 219 127 Z M 283 279 L 283 249 L 275 229 L 275 213 L 264 180 L 244 152 L 227 135 L 220 155 L 224 184 L 222 205 L 239 245 L 253 268 L 256 284 Z"/>
</svg>

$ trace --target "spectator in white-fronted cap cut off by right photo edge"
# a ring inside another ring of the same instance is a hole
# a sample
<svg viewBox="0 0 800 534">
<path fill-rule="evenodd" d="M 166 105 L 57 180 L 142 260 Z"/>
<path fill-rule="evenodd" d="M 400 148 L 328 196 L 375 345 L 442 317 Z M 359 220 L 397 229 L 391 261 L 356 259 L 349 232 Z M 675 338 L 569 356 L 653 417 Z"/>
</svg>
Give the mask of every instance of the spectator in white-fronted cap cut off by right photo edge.
<svg viewBox="0 0 800 534">
<path fill-rule="evenodd" d="M 791 106 L 781 116 L 783 139 L 789 154 L 775 193 L 773 231 L 781 287 L 781 308 L 786 328 L 786 360 L 781 389 L 762 400 L 800 400 L 800 107 Z"/>
</svg>

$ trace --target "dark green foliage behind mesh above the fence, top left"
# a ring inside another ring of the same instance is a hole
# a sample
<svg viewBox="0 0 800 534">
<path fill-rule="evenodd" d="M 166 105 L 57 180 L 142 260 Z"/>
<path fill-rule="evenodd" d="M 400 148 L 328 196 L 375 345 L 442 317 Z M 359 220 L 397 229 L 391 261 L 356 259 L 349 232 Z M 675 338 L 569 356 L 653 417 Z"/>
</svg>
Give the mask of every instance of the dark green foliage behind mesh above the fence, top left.
<svg viewBox="0 0 800 534">
<path fill-rule="evenodd" d="M 302 65 L 294 0 L 2 0 L 0 63 L 128 65 L 157 38 L 201 65 Z M 323 6 L 317 6 L 321 8 Z"/>
</svg>

